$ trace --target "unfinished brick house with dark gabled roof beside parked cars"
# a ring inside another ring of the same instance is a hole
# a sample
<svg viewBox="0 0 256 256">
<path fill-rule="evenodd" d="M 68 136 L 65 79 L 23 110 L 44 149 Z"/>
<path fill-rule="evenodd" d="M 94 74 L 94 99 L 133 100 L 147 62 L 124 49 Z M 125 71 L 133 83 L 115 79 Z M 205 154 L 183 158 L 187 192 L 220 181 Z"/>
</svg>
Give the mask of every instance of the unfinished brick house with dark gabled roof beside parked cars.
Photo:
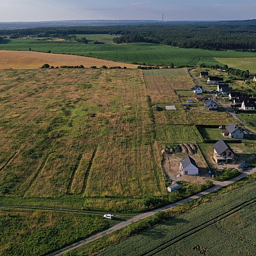
<svg viewBox="0 0 256 256">
<path fill-rule="evenodd" d="M 228 163 L 234 161 L 236 154 L 225 141 L 217 141 L 213 145 L 213 148 L 213 158 L 216 163 Z"/>
</svg>

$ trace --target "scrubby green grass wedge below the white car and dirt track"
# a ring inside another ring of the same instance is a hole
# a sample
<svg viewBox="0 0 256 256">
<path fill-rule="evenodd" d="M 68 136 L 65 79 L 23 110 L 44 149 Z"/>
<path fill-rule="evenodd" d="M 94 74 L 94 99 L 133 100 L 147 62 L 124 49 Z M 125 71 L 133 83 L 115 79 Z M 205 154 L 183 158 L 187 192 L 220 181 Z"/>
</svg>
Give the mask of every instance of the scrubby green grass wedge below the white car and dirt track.
<svg viewBox="0 0 256 256">
<path fill-rule="evenodd" d="M 0 255 L 45 255 L 118 222 L 97 215 L 1 209 Z"/>
</svg>

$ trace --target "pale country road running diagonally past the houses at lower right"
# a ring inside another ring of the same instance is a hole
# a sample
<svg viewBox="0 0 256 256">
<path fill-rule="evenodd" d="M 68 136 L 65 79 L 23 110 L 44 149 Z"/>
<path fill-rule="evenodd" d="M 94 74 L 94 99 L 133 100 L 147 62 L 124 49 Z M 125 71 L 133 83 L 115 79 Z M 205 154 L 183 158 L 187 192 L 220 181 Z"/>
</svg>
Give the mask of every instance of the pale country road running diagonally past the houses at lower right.
<svg viewBox="0 0 256 256">
<path fill-rule="evenodd" d="M 52 253 L 48 254 L 47 256 L 63 255 L 63 253 L 65 253 L 65 252 L 68 252 L 68 251 L 74 250 L 76 248 L 79 248 L 81 246 L 84 246 L 85 244 L 90 243 L 92 241 L 95 241 L 95 240 L 99 239 L 100 237 L 111 234 L 112 232 L 115 232 L 116 230 L 119 230 L 120 228 L 127 227 L 132 222 L 143 220 L 147 217 L 150 217 L 150 216 L 154 215 L 158 211 L 167 211 L 169 209 L 172 209 L 173 207 L 185 204 L 187 202 L 191 202 L 191 201 L 193 201 L 197 198 L 200 198 L 201 196 L 207 195 L 207 194 L 212 193 L 212 192 L 214 192 L 218 189 L 221 189 L 225 186 L 228 186 L 228 185 L 230 185 L 230 184 L 232 184 L 232 183 L 234 183 L 238 180 L 241 180 L 244 177 L 246 177 L 247 175 L 250 175 L 250 174 L 255 173 L 255 172 L 256 172 L 256 168 L 251 168 L 250 170 L 247 170 L 246 172 L 241 172 L 241 174 L 239 176 L 237 176 L 233 179 L 230 179 L 230 180 L 226 180 L 226 181 L 223 181 L 223 182 L 214 180 L 213 181 L 214 186 L 212 186 L 212 188 L 209 188 L 205 191 L 197 193 L 196 195 L 189 196 L 188 198 L 184 198 L 184 199 L 180 200 L 179 202 L 175 202 L 173 204 L 166 205 L 164 207 L 155 209 L 155 210 L 150 211 L 150 212 L 145 212 L 145 213 L 142 213 L 142 214 L 138 214 L 138 215 L 134 216 L 133 218 L 127 220 L 127 221 L 120 222 L 120 223 L 116 224 L 115 226 L 113 226 L 111 228 L 108 228 L 107 230 L 104 230 L 104 231 L 102 231 L 102 232 L 100 232 L 100 233 L 98 233 L 94 236 L 83 239 L 83 240 L 81 240 L 77 243 L 70 244 L 69 246 L 67 246 L 65 248 L 62 248 L 61 250 L 58 250 L 56 252 L 52 252 Z"/>
</svg>

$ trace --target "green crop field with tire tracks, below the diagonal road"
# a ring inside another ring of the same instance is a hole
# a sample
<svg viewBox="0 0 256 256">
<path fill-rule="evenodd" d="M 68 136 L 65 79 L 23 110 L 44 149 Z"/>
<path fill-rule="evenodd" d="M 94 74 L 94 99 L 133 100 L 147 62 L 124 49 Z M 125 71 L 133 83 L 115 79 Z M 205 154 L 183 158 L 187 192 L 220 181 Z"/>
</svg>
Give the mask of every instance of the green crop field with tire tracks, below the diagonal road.
<svg viewBox="0 0 256 256">
<path fill-rule="evenodd" d="M 216 196 L 99 255 L 255 255 L 255 188 Z"/>
</svg>

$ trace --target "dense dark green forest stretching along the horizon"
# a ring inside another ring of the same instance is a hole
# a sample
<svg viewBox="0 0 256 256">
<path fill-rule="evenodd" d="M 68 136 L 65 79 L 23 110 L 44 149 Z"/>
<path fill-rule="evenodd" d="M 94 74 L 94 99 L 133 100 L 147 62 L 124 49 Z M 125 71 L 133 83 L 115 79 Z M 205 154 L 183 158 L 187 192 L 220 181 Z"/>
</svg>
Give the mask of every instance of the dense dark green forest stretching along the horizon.
<svg viewBox="0 0 256 256">
<path fill-rule="evenodd" d="M 0 35 L 62 37 L 70 35 L 118 35 L 116 44 L 149 42 L 182 48 L 216 51 L 256 51 L 256 20 L 200 22 L 192 24 L 141 24 L 132 26 L 83 26 L 2 30 Z M 119 36 L 120 35 L 120 36 Z"/>
</svg>

